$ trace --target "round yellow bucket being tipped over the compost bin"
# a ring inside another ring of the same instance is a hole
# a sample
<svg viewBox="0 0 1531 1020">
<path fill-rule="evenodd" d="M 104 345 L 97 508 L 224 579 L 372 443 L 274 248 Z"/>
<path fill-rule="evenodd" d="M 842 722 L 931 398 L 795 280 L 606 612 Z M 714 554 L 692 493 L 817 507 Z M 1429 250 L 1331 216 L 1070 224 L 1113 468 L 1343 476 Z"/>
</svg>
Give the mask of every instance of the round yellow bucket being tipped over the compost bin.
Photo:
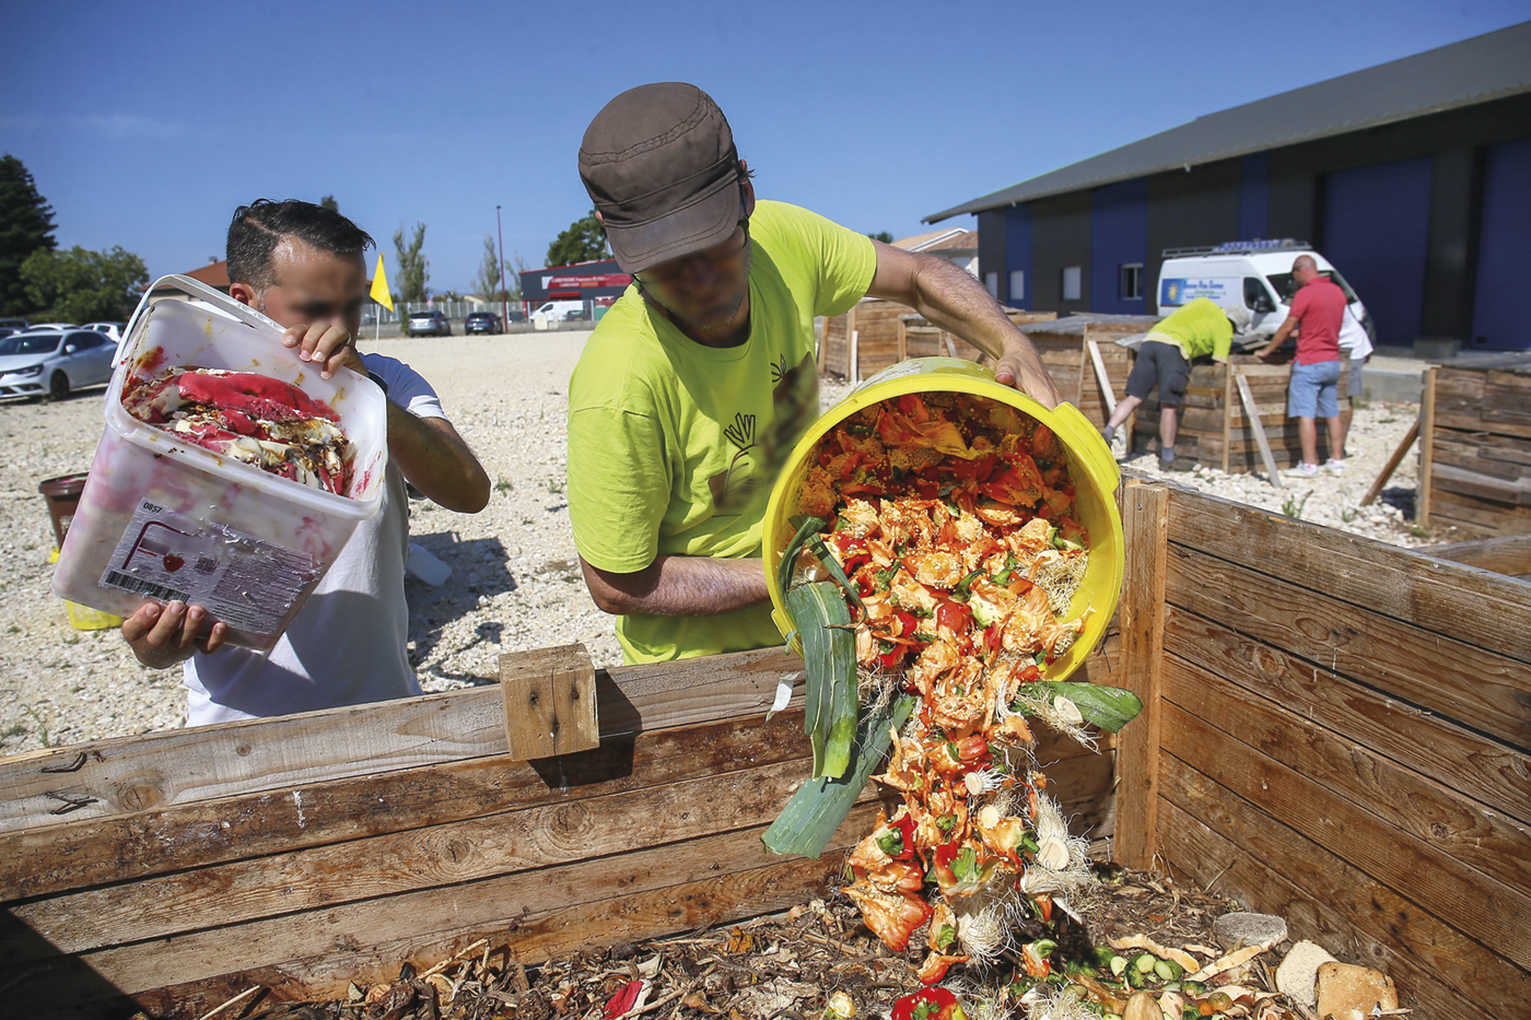
<svg viewBox="0 0 1531 1020">
<path fill-rule="evenodd" d="M 798 504 L 802 484 L 814 464 L 819 440 L 862 407 L 906 394 L 934 392 L 971 394 L 1010 404 L 1052 429 L 1069 452 L 1069 476 L 1075 487 L 1072 516 L 1084 525 L 1090 538 L 1090 564 L 1073 597 L 1070 614 L 1082 613 L 1085 608 L 1092 613 L 1069 651 L 1044 669 L 1047 680 L 1063 680 L 1095 651 L 1116 614 L 1116 600 L 1122 593 L 1127 559 L 1122 547 L 1122 518 L 1116 512 L 1115 498 L 1121 472 L 1105 440 L 1078 407 L 1059 404 L 1055 410 L 1049 410 L 1026 394 L 994 381 L 991 369 L 961 358 L 914 358 L 877 372 L 819 418 L 793 449 L 766 507 L 762 541 L 772 619 L 782 636 L 795 629 L 782 605 L 784 593 L 776 584 L 776 565 L 795 530 L 790 519 L 801 513 Z"/>
</svg>

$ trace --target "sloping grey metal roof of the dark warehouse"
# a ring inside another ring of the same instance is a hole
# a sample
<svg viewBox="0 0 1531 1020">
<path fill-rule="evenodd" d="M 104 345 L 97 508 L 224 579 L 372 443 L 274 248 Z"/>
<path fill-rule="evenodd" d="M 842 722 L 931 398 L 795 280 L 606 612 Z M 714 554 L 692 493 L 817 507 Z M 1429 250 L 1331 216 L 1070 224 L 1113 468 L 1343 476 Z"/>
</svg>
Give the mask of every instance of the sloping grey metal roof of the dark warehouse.
<svg viewBox="0 0 1531 1020">
<path fill-rule="evenodd" d="M 954 205 L 926 216 L 925 222 L 1344 135 L 1520 92 L 1531 92 L 1531 21 L 1208 113 Z"/>
</svg>

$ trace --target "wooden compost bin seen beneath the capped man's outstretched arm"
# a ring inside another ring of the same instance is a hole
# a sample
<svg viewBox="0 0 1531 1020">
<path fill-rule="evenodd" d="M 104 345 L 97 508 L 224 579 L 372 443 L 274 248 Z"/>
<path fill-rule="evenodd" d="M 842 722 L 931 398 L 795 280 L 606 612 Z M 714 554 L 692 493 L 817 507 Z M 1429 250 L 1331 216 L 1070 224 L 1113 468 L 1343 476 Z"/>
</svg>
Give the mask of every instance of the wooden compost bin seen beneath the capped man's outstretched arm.
<svg viewBox="0 0 1531 1020">
<path fill-rule="evenodd" d="M 1017 326 L 1056 319 L 1056 312 L 1006 309 Z M 981 354 L 966 340 L 932 326 L 908 305 L 860 300 L 844 315 L 825 319 L 819 334 L 819 371 L 860 381 L 905 358 L 954 357 L 977 361 Z"/>
</svg>

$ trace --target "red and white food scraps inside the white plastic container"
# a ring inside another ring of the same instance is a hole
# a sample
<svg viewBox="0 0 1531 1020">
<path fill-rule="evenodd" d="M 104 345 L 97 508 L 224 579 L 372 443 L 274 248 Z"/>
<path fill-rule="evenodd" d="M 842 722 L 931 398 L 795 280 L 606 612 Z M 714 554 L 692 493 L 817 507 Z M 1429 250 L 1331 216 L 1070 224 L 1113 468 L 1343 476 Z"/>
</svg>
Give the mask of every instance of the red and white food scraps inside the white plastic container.
<svg viewBox="0 0 1531 1020">
<path fill-rule="evenodd" d="M 354 450 L 328 404 L 256 372 L 181 368 L 130 378 L 122 407 L 145 424 L 271 475 L 343 496 Z"/>
</svg>

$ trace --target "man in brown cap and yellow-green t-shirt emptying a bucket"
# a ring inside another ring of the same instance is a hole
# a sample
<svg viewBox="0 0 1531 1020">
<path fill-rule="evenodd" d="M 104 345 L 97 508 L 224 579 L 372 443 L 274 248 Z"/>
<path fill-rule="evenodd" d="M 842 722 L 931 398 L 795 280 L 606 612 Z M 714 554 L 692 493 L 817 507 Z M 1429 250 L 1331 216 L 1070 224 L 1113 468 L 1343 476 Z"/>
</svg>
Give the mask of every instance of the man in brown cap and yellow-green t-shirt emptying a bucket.
<svg viewBox="0 0 1531 1020">
<path fill-rule="evenodd" d="M 756 202 L 723 112 L 640 86 L 585 132 L 580 178 L 632 285 L 570 380 L 568 501 L 585 584 L 629 663 L 781 642 L 761 565 L 766 501 L 818 418 L 814 315 L 909 305 L 1049 407 L 1030 342 L 955 265 Z"/>
</svg>

